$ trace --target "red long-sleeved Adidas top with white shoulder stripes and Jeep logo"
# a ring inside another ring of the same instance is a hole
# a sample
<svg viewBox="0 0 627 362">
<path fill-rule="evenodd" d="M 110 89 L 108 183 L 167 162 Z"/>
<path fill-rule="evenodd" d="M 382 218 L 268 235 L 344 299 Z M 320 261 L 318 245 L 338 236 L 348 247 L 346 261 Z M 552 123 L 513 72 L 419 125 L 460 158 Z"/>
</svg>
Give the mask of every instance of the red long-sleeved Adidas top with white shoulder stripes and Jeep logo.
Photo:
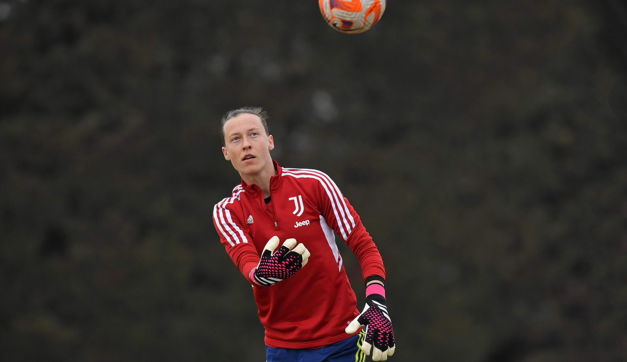
<svg viewBox="0 0 627 362">
<path fill-rule="evenodd" d="M 335 244 L 340 235 L 357 256 L 362 276 L 385 277 L 381 255 L 348 200 L 325 173 L 282 168 L 270 179 L 266 204 L 257 185 L 242 182 L 213 208 L 213 222 L 229 257 L 246 280 L 266 242 L 294 238 L 311 253 L 305 267 L 273 286 L 253 285 L 265 343 L 274 348 L 318 348 L 349 336 L 357 299 Z"/>
</svg>

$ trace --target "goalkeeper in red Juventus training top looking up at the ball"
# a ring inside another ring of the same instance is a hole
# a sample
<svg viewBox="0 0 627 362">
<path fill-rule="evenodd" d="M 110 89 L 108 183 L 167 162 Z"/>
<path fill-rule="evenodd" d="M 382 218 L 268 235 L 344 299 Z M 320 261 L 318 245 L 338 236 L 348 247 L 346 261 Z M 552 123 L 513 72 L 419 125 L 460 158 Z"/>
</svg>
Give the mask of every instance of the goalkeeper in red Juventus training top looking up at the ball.
<svg viewBox="0 0 627 362">
<path fill-rule="evenodd" d="M 272 160 L 266 117 L 263 108 L 245 107 L 222 118 L 222 152 L 241 183 L 213 208 L 226 252 L 253 286 L 266 358 L 364 361 L 372 348 L 372 359 L 384 361 L 396 346 L 381 255 L 329 176 Z M 361 264 L 361 313 L 334 233 Z"/>
</svg>

